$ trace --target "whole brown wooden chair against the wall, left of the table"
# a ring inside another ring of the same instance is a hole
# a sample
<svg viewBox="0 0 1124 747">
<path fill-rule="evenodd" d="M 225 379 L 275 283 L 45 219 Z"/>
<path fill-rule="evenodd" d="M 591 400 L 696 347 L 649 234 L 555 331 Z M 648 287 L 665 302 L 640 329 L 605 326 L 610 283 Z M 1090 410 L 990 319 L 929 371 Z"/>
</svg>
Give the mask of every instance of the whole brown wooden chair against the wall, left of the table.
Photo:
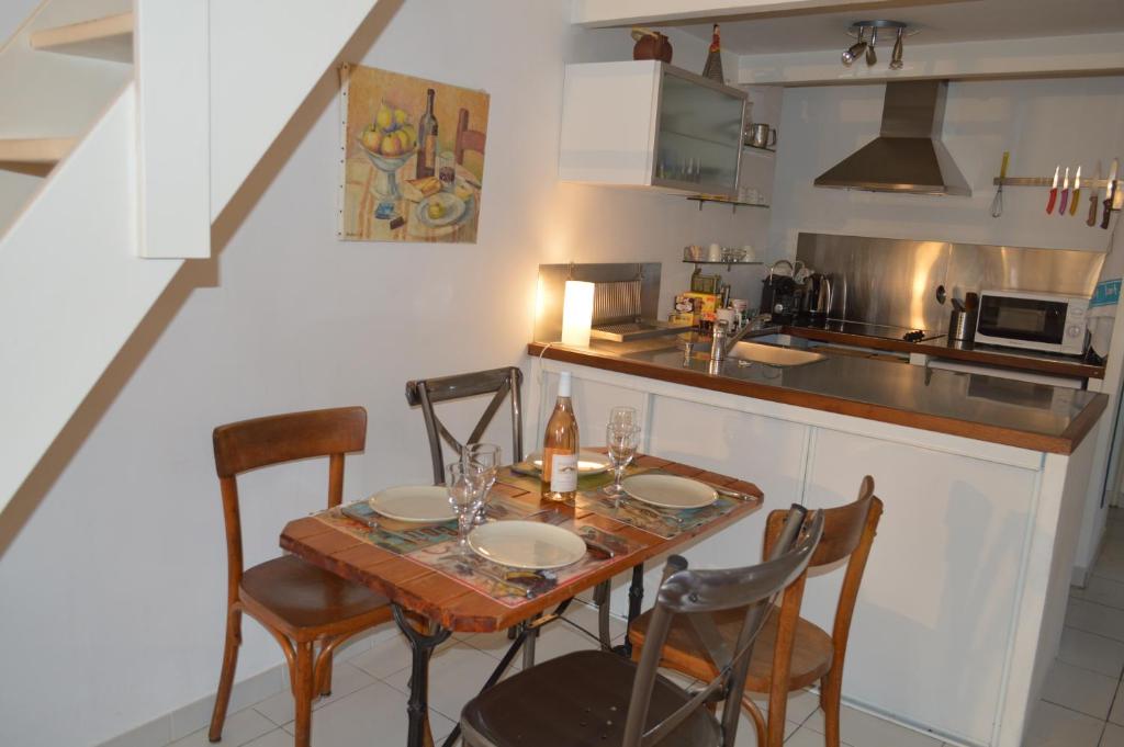
<svg viewBox="0 0 1124 747">
<path fill-rule="evenodd" d="M 312 699 L 317 692 L 330 694 L 333 652 L 356 632 L 389 620 L 390 605 L 365 586 L 291 555 L 243 568 L 237 475 L 327 456 L 328 508 L 339 505 L 344 455 L 363 449 L 366 410 L 350 407 L 243 420 L 216 428 L 214 440 L 226 520 L 227 612 L 223 672 L 208 736 L 211 741 L 223 736 L 245 612 L 281 644 L 296 701 L 296 745 L 308 747 Z M 320 649 L 314 657 L 317 643 Z"/>
</svg>

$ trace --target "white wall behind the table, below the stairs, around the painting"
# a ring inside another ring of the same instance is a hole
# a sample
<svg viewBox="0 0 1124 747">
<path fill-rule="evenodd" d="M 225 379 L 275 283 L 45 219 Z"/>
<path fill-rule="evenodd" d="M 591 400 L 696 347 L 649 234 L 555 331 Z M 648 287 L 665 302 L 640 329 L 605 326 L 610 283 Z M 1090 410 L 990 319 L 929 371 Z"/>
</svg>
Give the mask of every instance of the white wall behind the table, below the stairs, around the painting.
<svg viewBox="0 0 1124 747">
<path fill-rule="evenodd" d="M 568 0 L 398 4 L 380 2 L 343 57 L 491 93 L 479 243 L 336 242 L 327 71 L 216 224 L 217 258 L 188 263 L 0 514 L 0 743 L 93 745 L 214 691 L 215 426 L 363 404 L 368 448 L 348 461 L 347 498 L 428 481 L 404 383 L 519 362 L 540 262 L 662 259 L 664 282 L 682 285 L 685 244 L 763 237 L 758 212 L 555 182 L 563 62 L 627 58 L 626 30 L 573 31 Z M 677 62 L 698 69 L 691 44 L 676 39 Z M 278 555 L 282 523 L 323 504 L 325 470 L 244 480 L 247 563 Z M 245 628 L 239 678 L 282 661 Z"/>
</svg>

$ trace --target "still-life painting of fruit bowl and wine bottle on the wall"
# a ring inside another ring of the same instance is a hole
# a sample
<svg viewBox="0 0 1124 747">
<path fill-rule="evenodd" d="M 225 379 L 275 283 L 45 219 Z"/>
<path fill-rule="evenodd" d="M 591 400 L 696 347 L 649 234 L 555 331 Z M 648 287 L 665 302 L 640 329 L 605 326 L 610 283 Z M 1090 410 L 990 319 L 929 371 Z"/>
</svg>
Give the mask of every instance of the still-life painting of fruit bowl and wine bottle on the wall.
<svg viewBox="0 0 1124 747">
<path fill-rule="evenodd" d="M 362 65 L 339 78 L 341 238 L 474 244 L 488 94 Z"/>
</svg>

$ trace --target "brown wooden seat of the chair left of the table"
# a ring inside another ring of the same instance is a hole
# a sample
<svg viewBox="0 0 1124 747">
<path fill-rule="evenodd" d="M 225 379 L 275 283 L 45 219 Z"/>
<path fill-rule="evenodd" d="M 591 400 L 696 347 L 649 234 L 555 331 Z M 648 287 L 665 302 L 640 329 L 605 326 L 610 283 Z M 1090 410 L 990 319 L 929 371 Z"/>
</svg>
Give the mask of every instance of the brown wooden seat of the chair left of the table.
<svg viewBox="0 0 1124 747">
<path fill-rule="evenodd" d="M 371 625 L 364 618 L 390 618 L 386 596 L 292 555 L 246 568 L 239 595 L 247 611 L 264 611 L 297 638 L 308 637 L 298 631 L 338 631 Z"/>
</svg>

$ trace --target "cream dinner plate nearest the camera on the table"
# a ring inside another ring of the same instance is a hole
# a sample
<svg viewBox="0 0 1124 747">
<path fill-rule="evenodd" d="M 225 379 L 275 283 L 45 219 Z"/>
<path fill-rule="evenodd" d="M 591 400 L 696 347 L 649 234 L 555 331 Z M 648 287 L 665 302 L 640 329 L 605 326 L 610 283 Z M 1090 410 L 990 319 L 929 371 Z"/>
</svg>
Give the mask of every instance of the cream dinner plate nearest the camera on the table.
<svg viewBox="0 0 1124 747">
<path fill-rule="evenodd" d="M 516 568 L 561 568 L 586 556 L 586 540 L 538 521 L 492 521 L 469 532 L 477 555 Z"/>
</svg>

